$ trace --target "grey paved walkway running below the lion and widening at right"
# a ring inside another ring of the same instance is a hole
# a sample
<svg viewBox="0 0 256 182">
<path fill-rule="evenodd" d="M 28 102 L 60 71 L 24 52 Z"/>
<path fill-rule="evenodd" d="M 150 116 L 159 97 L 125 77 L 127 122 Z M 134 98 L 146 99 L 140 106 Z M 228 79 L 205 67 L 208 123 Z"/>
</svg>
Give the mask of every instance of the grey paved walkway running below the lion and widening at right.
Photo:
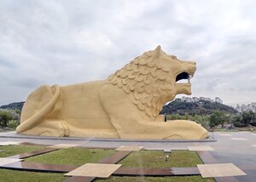
<svg viewBox="0 0 256 182">
<path fill-rule="evenodd" d="M 212 133 L 210 134 L 212 136 Z M 120 140 L 120 139 L 82 139 L 82 138 L 48 138 L 27 137 L 15 133 L 0 133 L 0 142 L 18 141 L 37 144 L 57 145 L 72 143 L 87 147 L 119 147 L 121 145 L 143 145 L 146 150 L 188 150 L 189 146 L 211 146 L 214 151 L 198 152 L 205 163 L 233 163 L 246 176 L 215 178 L 217 181 L 255 181 L 256 179 L 256 134 L 247 132 L 214 133 L 212 139 L 205 142 L 176 140 Z"/>
</svg>

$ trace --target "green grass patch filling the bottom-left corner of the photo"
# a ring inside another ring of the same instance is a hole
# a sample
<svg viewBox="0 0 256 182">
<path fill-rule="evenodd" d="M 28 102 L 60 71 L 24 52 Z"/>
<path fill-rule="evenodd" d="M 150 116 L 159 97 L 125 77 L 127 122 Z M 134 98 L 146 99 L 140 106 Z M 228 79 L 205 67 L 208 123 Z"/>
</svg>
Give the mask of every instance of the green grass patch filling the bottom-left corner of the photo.
<svg viewBox="0 0 256 182">
<path fill-rule="evenodd" d="M 64 179 L 67 179 L 63 176 L 63 173 L 36 173 L 2 168 L 0 169 L 0 176 L 0 181 L 4 182 L 62 182 Z"/>
</svg>

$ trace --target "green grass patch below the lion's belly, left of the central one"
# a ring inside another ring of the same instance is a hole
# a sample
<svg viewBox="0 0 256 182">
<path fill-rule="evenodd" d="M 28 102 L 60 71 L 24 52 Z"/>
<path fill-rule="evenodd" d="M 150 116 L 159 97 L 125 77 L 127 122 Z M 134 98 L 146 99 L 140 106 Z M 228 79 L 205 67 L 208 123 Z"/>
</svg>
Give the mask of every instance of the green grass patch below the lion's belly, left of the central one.
<svg viewBox="0 0 256 182">
<path fill-rule="evenodd" d="M 82 165 L 84 163 L 94 163 L 101 159 L 113 155 L 113 150 L 103 149 L 83 149 L 67 148 L 58 151 L 52 151 L 39 156 L 26 158 L 26 162 L 41 162 L 55 164 Z"/>
</svg>

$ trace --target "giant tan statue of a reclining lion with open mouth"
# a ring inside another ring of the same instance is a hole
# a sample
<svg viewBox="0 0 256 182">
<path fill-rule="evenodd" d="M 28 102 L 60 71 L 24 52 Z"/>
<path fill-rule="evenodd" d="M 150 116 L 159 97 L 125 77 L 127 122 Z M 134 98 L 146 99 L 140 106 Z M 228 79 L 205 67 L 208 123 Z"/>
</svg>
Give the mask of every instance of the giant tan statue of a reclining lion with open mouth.
<svg viewBox="0 0 256 182">
<path fill-rule="evenodd" d="M 17 134 L 121 139 L 205 139 L 190 121 L 164 122 L 162 106 L 191 94 L 195 62 L 177 60 L 160 46 L 131 60 L 106 80 L 41 86 L 21 112 Z"/>
</svg>

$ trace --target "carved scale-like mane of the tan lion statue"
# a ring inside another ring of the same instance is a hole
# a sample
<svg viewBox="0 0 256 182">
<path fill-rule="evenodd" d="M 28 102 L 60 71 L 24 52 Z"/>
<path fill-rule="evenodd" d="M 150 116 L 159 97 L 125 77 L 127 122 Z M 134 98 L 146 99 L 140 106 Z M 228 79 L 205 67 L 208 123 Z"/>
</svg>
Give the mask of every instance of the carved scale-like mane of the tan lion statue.
<svg viewBox="0 0 256 182">
<path fill-rule="evenodd" d="M 160 65 L 158 54 L 148 51 L 108 77 L 113 85 L 129 94 L 131 102 L 153 121 L 166 102 L 164 97 L 172 93 L 173 82 L 171 70 Z M 172 56 L 172 59 L 177 58 Z"/>
</svg>

